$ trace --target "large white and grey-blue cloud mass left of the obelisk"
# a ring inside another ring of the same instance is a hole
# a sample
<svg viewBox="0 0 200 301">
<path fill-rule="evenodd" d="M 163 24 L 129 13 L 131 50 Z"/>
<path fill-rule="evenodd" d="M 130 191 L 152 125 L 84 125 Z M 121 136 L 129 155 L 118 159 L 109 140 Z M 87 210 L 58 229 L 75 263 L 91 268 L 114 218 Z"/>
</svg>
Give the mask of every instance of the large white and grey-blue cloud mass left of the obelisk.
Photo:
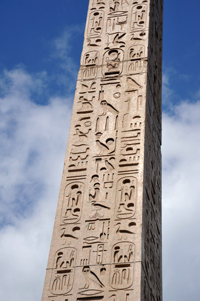
<svg viewBox="0 0 200 301">
<path fill-rule="evenodd" d="M 0 299 L 40 300 L 70 123 L 72 97 L 36 104 L 45 74 L 1 76 Z"/>
</svg>

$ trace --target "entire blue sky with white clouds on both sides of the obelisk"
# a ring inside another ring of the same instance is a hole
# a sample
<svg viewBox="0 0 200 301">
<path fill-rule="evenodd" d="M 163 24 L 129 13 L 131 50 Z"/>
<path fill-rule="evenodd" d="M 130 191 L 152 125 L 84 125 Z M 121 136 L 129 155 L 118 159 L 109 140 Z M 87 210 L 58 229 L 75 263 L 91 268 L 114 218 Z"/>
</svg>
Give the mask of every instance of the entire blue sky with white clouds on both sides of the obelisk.
<svg viewBox="0 0 200 301">
<path fill-rule="evenodd" d="M 2 301 L 41 298 L 87 4 L 0 1 Z M 199 9 L 198 0 L 164 5 L 164 301 L 200 299 Z"/>
</svg>

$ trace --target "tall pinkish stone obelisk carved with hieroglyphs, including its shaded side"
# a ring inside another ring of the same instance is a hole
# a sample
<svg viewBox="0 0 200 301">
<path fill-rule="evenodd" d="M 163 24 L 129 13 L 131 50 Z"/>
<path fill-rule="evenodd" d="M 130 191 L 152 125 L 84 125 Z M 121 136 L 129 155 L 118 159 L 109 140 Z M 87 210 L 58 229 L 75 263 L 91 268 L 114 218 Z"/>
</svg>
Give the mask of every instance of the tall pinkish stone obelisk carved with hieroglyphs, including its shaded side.
<svg viewBox="0 0 200 301">
<path fill-rule="evenodd" d="M 42 301 L 160 301 L 162 0 L 90 0 Z"/>
</svg>

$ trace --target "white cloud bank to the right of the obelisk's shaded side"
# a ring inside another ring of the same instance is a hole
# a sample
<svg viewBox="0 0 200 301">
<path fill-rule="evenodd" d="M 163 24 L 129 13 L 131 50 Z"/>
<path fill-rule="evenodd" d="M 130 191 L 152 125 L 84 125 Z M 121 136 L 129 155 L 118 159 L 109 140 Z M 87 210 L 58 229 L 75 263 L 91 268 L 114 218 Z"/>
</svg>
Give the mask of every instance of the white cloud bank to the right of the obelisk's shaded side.
<svg viewBox="0 0 200 301">
<path fill-rule="evenodd" d="M 200 101 L 182 102 L 162 124 L 164 300 L 199 299 Z"/>
</svg>

